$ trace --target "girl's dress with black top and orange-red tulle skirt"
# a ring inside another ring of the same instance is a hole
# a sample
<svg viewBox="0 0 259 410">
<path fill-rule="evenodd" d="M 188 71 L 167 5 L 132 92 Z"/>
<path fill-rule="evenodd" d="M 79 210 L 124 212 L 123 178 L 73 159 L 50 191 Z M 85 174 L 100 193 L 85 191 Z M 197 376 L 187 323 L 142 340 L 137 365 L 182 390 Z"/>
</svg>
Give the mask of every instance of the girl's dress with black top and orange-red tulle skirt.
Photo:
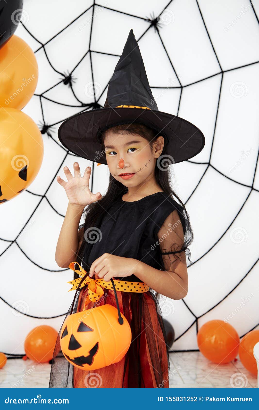
<svg viewBox="0 0 259 410">
<path fill-rule="evenodd" d="M 134 258 L 159 270 L 168 269 L 172 264 L 170 257 L 175 256 L 177 242 L 173 236 L 174 230 L 171 229 L 170 232 L 168 226 L 174 223 L 173 211 L 177 210 L 176 216 L 178 219 L 180 217 L 178 222 L 182 225 L 183 232 L 186 231 L 186 219 L 182 209 L 181 205 L 165 192 L 157 192 L 133 202 L 125 202 L 121 198 L 115 200 L 99 226 L 101 241 L 90 246 L 87 244 L 83 269 L 89 271 L 94 260 L 105 252 Z M 159 241 L 158 231 L 165 220 L 171 220 L 172 223 L 165 226 L 165 240 Z M 98 276 L 94 274 L 93 278 L 97 279 Z M 140 281 L 135 275 L 125 277 L 125 280 Z M 101 304 L 110 303 L 116 307 L 114 291 L 105 289 L 105 293 Z M 78 291 L 73 313 L 83 310 L 87 294 L 87 286 Z M 154 291 L 149 290 L 143 294 L 117 292 L 117 296 L 120 310 L 130 323 L 132 332 L 132 342 L 124 358 L 116 364 L 92 372 L 78 369 L 70 364 L 60 351 L 60 329 L 53 354 L 49 387 L 169 387 L 166 334 L 163 315 Z M 90 302 L 86 309 L 91 307 L 94 307 L 93 302 Z M 66 317 L 70 310 L 71 307 Z"/>
</svg>

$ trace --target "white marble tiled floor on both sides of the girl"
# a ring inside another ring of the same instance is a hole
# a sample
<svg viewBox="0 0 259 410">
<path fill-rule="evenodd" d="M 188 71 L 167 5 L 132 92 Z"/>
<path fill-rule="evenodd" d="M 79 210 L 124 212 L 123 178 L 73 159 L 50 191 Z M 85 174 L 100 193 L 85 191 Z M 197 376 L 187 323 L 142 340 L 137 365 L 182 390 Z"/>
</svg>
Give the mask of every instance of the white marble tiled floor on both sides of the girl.
<svg viewBox="0 0 259 410">
<path fill-rule="evenodd" d="M 9 359 L 0 369 L 0 387 L 48 387 L 50 364 Z M 170 387 L 257 387 L 257 377 L 240 360 L 228 364 L 209 362 L 199 352 L 170 353 Z"/>
</svg>

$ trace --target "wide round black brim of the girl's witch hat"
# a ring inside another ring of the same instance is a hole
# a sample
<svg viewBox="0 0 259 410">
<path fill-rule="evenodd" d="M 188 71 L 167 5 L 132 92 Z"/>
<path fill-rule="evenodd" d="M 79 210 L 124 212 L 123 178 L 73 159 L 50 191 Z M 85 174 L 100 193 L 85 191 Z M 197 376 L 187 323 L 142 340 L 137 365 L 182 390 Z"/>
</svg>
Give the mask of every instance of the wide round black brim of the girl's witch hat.
<svg viewBox="0 0 259 410">
<path fill-rule="evenodd" d="M 142 123 L 168 139 L 167 154 L 173 162 L 197 155 L 205 144 L 201 130 L 189 121 L 166 112 L 142 108 L 100 108 L 67 118 L 58 129 L 58 139 L 71 153 L 107 165 L 105 151 L 96 136 L 109 125 Z"/>
</svg>

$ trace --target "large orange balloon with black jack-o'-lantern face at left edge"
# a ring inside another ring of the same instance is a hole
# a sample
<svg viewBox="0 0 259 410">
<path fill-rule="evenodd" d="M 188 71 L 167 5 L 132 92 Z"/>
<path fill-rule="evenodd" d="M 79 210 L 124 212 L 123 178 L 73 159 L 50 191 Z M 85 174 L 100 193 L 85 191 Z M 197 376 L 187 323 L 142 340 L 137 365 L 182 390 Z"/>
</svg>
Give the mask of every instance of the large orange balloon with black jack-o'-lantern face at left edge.
<svg viewBox="0 0 259 410">
<path fill-rule="evenodd" d="M 0 203 L 27 188 L 43 159 L 42 135 L 24 112 L 0 108 Z"/>
</svg>

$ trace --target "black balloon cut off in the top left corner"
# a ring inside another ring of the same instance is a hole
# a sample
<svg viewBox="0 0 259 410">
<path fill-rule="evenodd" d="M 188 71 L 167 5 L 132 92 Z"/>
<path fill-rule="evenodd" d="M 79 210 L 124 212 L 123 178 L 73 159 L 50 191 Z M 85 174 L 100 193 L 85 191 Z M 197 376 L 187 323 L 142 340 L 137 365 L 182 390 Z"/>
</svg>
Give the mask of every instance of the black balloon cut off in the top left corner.
<svg viewBox="0 0 259 410">
<path fill-rule="evenodd" d="M 22 12 L 23 0 L 7 0 L 0 3 L 0 48 L 14 34 Z"/>
</svg>

